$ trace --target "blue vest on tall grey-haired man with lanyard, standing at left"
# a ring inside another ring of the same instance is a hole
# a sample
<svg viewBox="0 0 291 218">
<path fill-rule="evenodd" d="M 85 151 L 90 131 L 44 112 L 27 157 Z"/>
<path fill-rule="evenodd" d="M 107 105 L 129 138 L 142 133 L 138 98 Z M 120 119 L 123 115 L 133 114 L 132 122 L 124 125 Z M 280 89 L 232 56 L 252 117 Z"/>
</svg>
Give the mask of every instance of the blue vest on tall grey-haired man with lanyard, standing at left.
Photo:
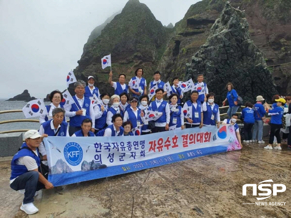
<svg viewBox="0 0 291 218">
<path fill-rule="evenodd" d="M 72 104 L 72 108 L 70 109 L 70 111 L 77 111 L 80 110 L 81 106 L 78 103 L 78 100 L 76 98 L 76 96 L 73 96 L 73 99 L 75 101 L 74 104 Z M 89 98 L 85 98 L 83 100 L 83 107 L 84 109 L 86 109 L 86 116 L 83 115 L 76 115 L 74 117 L 70 117 L 70 126 L 75 126 L 75 127 L 81 127 L 81 123 L 84 119 L 88 118 L 91 120 L 90 117 L 90 104 L 91 104 L 91 100 Z M 78 105 L 78 107 L 77 107 Z"/>
</svg>

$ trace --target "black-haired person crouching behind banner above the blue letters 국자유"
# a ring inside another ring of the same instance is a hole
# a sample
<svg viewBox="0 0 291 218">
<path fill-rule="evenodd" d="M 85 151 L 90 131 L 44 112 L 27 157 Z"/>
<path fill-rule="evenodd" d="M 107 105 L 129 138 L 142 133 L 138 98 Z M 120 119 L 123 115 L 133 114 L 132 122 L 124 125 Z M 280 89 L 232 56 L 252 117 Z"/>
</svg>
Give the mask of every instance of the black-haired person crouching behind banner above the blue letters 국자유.
<svg viewBox="0 0 291 218">
<path fill-rule="evenodd" d="M 96 136 L 123 136 L 122 116 L 116 113 L 112 116 L 112 125 L 107 126 L 97 133 Z"/>
</svg>

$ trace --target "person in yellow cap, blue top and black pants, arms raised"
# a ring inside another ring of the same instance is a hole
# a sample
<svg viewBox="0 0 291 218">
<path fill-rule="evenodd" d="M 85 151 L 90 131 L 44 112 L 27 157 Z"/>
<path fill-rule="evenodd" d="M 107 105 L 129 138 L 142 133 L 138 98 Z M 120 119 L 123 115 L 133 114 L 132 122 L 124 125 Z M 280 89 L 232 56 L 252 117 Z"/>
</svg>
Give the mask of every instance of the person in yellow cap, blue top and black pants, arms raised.
<svg viewBox="0 0 291 218">
<path fill-rule="evenodd" d="M 273 150 L 272 144 L 274 142 L 274 136 L 277 138 L 277 146 L 274 147 L 274 149 L 282 150 L 281 148 L 281 137 L 280 137 L 280 128 L 282 127 L 282 116 L 284 114 L 284 105 L 286 103 L 286 100 L 284 98 L 275 99 L 277 102 L 277 107 L 275 109 L 271 109 L 270 106 L 265 103 L 265 109 L 269 113 L 269 115 L 272 115 L 270 120 L 270 138 L 269 138 L 269 144 L 264 147 L 264 149 L 270 149 Z"/>
</svg>

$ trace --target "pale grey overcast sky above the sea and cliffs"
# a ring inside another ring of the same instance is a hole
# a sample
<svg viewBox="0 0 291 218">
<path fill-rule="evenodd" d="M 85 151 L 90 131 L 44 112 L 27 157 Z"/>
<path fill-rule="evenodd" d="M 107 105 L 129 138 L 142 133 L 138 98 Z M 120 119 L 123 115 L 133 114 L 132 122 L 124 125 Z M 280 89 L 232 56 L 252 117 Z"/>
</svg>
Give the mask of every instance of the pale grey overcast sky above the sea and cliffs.
<svg viewBox="0 0 291 218">
<path fill-rule="evenodd" d="M 127 1 L 0 0 L 0 98 L 65 90 L 91 31 Z M 198 1 L 140 0 L 163 25 L 175 25 Z"/>
</svg>

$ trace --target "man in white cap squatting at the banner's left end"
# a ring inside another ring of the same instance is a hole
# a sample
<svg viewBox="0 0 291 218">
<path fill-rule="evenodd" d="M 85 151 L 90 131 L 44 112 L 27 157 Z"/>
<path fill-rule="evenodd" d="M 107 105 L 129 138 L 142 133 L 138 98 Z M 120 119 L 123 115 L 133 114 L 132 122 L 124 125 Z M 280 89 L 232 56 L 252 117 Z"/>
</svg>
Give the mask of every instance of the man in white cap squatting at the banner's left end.
<svg viewBox="0 0 291 218">
<path fill-rule="evenodd" d="M 38 147 L 42 136 L 37 130 L 29 130 L 24 134 L 25 142 L 11 161 L 10 187 L 24 193 L 20 210 L 26 214 L 35 214 L 38 209 L 34 206 L 33 197 L 42 188 L 53 188 L 53 185 L 40 171 L 40 155 Z"/>
</svg>

